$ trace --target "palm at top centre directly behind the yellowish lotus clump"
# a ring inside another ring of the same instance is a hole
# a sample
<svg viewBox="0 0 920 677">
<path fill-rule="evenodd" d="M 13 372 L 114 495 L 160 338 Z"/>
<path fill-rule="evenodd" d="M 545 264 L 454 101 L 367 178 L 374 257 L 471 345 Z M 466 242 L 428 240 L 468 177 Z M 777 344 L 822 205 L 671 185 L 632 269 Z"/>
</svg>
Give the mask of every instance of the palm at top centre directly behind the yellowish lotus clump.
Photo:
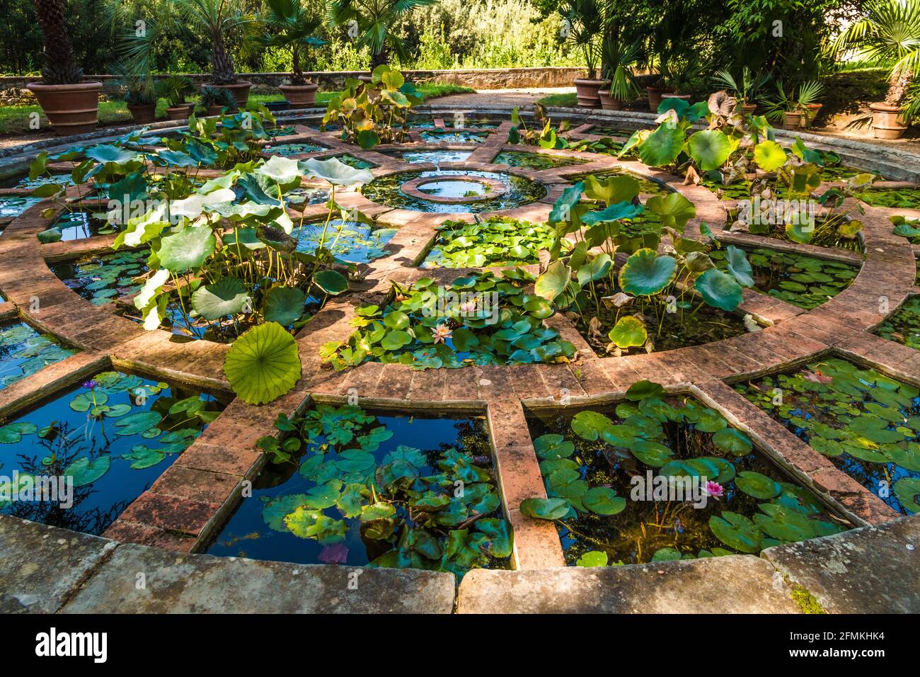
<svg viewBox="0 0 920 677">
<path fill-rule="evenodd" d="M 393 32 L 397 20 L 416 7 L 434 5 L 437 0 L 329 0 L 328 21 L 333 26 L 358 27 L 358 45 L 371 50 L 371 70 L 385 64 L 392 50 L 401 61 L 408 58 L 402 39 Z"/>
</svg>

